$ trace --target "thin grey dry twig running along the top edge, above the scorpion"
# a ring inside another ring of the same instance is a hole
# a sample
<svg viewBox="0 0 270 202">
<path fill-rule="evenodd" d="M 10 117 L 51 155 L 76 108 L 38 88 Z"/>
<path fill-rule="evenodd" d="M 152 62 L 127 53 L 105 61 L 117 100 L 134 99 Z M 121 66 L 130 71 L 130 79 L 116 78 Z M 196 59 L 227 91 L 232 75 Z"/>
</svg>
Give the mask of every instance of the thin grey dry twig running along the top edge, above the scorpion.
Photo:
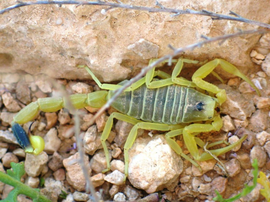
<svg viewBox="0 0 270 202">
<path fill-rule="evenodd" d="M 202 15 L 202 16 L 210 16 L 212 17 L 213 20 L 221 20 L 221 19 L 226 19 L 226 20 L 233 20 L 233 21 L 239 21 L 239 22 L 245 22 L 261 27 L 266 27 L 270 28 L 270 24 L 243 18 L 239 16 L 238 14 L 230 11 L 230 15 L 233 16 L 227 16 L 227 15 L 222 15 L 222 14 L 216 14 L 212 13 L 210 11 L 206 10 L 201 10 L 201 11 L 195 11 L 191 9 L 186 9 L 186 10 L 180 10 L 180 9 L 174 9 L 174 8 L 165 8 L 162 6 L 160 3 L 157 2 L 157 6 L 159 8 L 153 8 L 153 7 L 145 7 L 145 6 L 135 6 L 135 5 L 128 5 L 124 4 L 121 1 L 119 3 L 112 3 L 112 2 L 105 2 L 105 1 L 79 1 L 79 0 L 33 0 L 33 1 L 19 1 L 17 4 L 11 5 L 7 8 L 4 8 L 0 10 L 0 14 L 3 14 L 5 12 L 8 12 L 10 10 L 23 7 L 23 6 L 29 6 L 29 5 L 48 5 L 48 4 L 57 4 L 57 5 L 64 5 L 64 4 L 69 4 L 69 5 L 100 5 L 100 6 L 112 6 L 114 8 L 123 8 L 123 9 L 129 9 L 129 10 L 139 10 L 139 11 L 148 11 L 148 12 L 155 12 L 155 13 L 173 13 L 172 17 L 179 16 L 179 15 L 184 15 L 184 14 L 192 14 L 192 15 Z"/>
</svg>

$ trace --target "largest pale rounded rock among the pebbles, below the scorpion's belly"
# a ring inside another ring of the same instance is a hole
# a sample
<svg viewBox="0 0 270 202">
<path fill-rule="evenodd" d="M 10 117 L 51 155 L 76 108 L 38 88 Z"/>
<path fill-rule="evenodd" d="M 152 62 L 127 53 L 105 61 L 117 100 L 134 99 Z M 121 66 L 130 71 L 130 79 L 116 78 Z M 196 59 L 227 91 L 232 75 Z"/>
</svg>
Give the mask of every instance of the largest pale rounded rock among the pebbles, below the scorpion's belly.
<svg viewBox="0 0 270 202">
<path fill-rule="evenodd" d="M 129 151 L 129 159 L 129 181 L 147 193 L 163 188 L 173 190 L 183 170 L 181 157 L 161 135 L 154 140 L 149 136 L 137 138 Z"/>
</svg>

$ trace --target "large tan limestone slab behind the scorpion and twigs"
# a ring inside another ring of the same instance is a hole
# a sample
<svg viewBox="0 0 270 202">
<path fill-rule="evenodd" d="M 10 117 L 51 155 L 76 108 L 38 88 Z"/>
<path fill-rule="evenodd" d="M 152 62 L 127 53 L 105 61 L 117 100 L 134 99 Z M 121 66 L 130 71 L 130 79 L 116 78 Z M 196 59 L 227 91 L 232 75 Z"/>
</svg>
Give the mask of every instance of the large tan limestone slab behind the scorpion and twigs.
<svg viewBox="0 0 270 202">
<path fill-rule="evenodd" d="M 269 0 L 160 0 L 164 7 L 177 9 L 205 9 L 219 14 L 230 10 L 261 22 L 270 21 L 266 9 Z M 15 4 L 16 0 L 1 0 L 0 8 Z M 123 3 L 154 7 L 154 0 Z M 101 14 L 105 6 L 34 5 L 25 6 L 0 15 L 0 72 L 44 73 L 56 78 L 89 79 L 77 64 L 88 65 L 105 82 L 130 78 L 150 57 L 161 57 L 174 47 L 235 32 L 253 29 L 254 25 L 228 20 L 212 20 L 207 16 L 111 9 Z M 222 57 L 247 73 L 251 67 L 249 53 L 259 35 L 237 37 L 221 46 L 211 43 L 187 58 L 205 60 Z"/>
</svg>

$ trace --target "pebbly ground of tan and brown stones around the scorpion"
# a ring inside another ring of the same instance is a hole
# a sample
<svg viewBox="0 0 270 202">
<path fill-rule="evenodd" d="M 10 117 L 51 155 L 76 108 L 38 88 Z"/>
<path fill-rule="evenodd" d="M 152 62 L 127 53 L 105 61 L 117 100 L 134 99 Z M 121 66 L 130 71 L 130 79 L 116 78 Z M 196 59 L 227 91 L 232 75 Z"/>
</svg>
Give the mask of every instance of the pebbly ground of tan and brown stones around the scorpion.
<svg viewBox="0 0 270 202">
<path fill-rule="evenodd" d="M 84 162 L 90 165 L 88 174 L 103 200 L 134 201 L 159 191 L 166 194 L 170 201 L 210 202 L 218 190 L 224 198 L 237 194 L 244 184 L 251 184 L 251 162 L 257 158 L 259 169 L 270 176 L 270 34 L 264 35 L 253 48 L 251 55 L 254 67 L 261 69 L 248 77 L 260 89 L 261 97 L 239 78 L 232 78 L 226 84 L 218 84 L 226 89 L 227 101 L 222 106 L 223 128 L 219 132 L 200 134 L 205 142 L 226 140 L 234 143 L 244 134 L 248 138 L 242 145 L 219 157 L 228 173 L 217 165 L 216 160 L 199 163 L 200 172 L 186 160 L 182 160 L 167 145 L 164 135 L 158 131 L 140 130 L 134 146 L 130 150 L 129 176 L 124 177 L 123 146 L 132 125 L 122 121 L 115 122 L 106 144 L 110 150 L 111 171 L 102 174 L 106 160 L 100 142 L 108 116 L 115 111 L 109 109 L 89 122 L 96 109 L 79 110 L 80 129 L 82 131 Z M 259 66 L 258 66 L 259 65 Z M 65 86 L 68 93 L 89 93 L 99 88 L 93 81 L 75 81 L 60 79 L 56 83 Z M 93 198 L 85 193 L 86 181 L 81 167 L 76 163 L 79 158 L 74 136 L 75 120 L 67 110 L 54 113 L 40 112 L 31 130 L 45 140 L 45 149 L 39 156 L 25 154 L 18 146 L 11 132 L 13 116 L 30 102 L 38 98 L 59 95 L 46 77 L 30 74 L 1 74 L 0 84 L 0 170 L 10 168 L 11 162 L 25 163 L 26 174 L 22 181 L 41 192 L 53 202 L 91 202 Z M 23 128 L 27 131 L 31 123 Z M 153 136 L 153 137 L 152 137 Z M 182 137 L 176 138 L 184 152 L 188 154 Z M 225 147 L 221 145 L 219 147 Z M 40 187 L 40 179 L 45 183 Z M 251 194 L 239 202 L 261 202 L 261 185 L 257 184 Z M 0 183 L 1 198 L 4 199 L 12 187 Z M 68 196 L 61 199 L 65 191 Z M 28 202 L 24 196 L 19 201 Z"/>
</svg>

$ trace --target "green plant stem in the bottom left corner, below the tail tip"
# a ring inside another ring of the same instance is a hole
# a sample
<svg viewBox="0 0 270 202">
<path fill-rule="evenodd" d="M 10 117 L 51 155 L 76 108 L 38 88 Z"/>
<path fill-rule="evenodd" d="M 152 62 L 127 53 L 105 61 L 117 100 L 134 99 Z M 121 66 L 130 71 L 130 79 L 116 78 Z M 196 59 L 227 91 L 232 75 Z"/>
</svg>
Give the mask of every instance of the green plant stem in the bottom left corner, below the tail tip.
<svg viewBox="0 0 270 202">
<path fill-rule="evenodd" d="M 0 171 L 0 181 L 3 182 L 4 184 L 9 184 L 15 189 L 17 189 L 18 194 L 23 194 L 31 199 L 39 199 L 42 202 L 52 202 L 51 200 L 47 199 L 43 194 L 38 192 L 37 190 L 27 186 L 26 184 L 23 184 L 19 182 L 18 180 L 14 179 L 13 177 L 3 173 Z"/>
</svg>

